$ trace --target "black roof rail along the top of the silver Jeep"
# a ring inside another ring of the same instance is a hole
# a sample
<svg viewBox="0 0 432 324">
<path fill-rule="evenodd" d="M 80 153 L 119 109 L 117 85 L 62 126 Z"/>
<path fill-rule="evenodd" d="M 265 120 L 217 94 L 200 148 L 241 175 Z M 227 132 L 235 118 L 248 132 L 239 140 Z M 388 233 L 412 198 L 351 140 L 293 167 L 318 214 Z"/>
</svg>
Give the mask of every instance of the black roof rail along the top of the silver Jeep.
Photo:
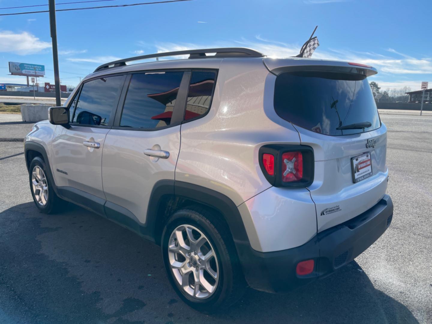
<svg viewBox="0 0 432 324">
<path fill-rule="evenodd" d="M 206 55 L 206 53 L 216 53 L 215 55 Z M 174 55 L 184 55 L 189 54 L 189 58 L 205 58 L 205 57 L 263 57 L 264 54 L 252 50 L 250 48 L 242 48 L 242 47 L 227 47 L 227 48 L 205 48 L 200 50 L 184 50 L 184 51 L 175 51 L 175 52 L 165 52 L 165 53 L 156 53 L 156 54 L 148 54 L 141 56 L 134 56 L 129 58 L 124 58 L 122 60 L 112 61 L 106 64 L 102 64 L 100 67 L 97 67 L 95 72 L 107 69 L 110 67 L 122 67 L 126 65 L 126 62 L 132 62 L 137 60 L 144 60 L 146 58 L 153 57 L 164 57 L 164 56 L 174 56 Z"/>
</svg>

